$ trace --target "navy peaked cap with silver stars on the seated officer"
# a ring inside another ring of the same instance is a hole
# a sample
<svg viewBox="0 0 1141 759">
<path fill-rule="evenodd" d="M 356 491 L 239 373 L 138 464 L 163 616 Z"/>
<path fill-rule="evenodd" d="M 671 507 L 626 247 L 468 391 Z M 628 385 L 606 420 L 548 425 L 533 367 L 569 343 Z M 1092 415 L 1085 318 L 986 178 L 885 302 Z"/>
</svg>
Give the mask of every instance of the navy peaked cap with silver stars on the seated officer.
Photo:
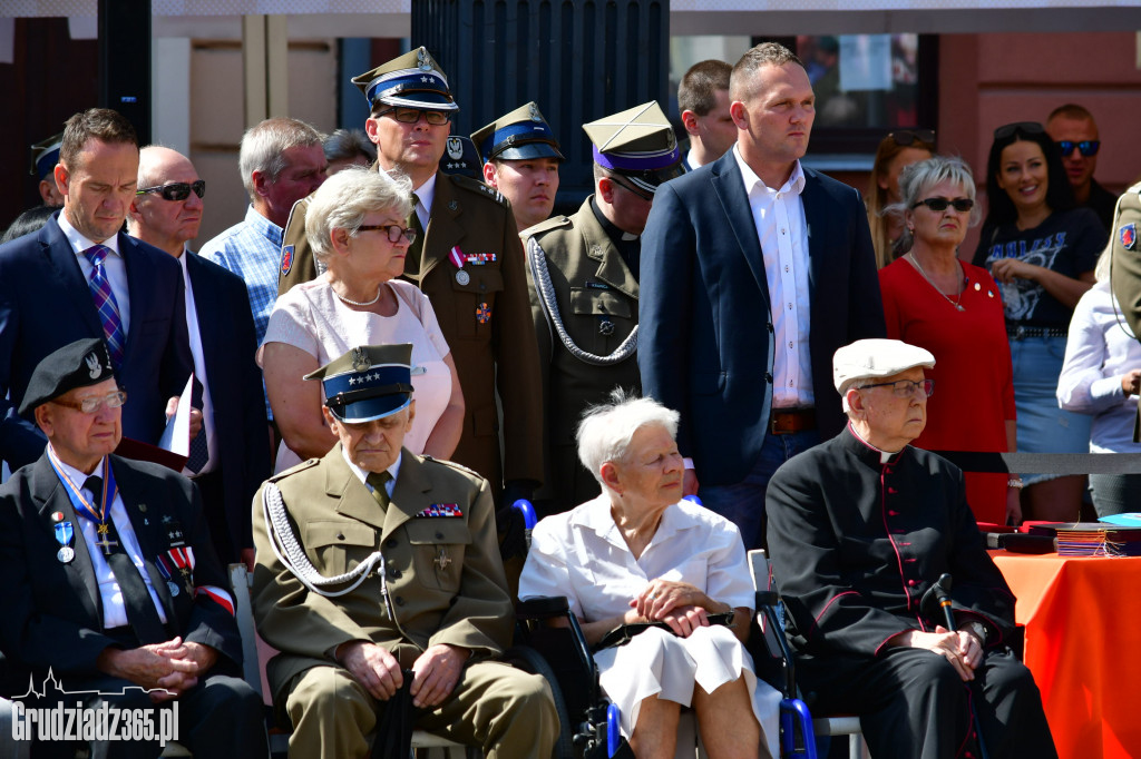
<svg viewBox="0 0 1141 759">
<path fill-rule="evenodd" d="M 321 379 L 325 406 L 341 422 L 391 416 L 412 402 L 412 344 L 361 345 L 306 379 Z"/>
</svg>

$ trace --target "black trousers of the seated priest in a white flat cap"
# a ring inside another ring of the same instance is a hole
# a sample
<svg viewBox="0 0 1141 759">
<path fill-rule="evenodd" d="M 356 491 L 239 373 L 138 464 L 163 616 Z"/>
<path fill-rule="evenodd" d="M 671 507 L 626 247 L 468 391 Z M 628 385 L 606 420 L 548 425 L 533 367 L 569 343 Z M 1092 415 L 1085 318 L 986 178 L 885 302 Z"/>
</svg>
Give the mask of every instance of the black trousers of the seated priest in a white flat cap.
<svg viewBox="0 0 1141 759">
<path fill-rule="evenodd" d="M 874 659 L 803 656 L 796 672 L 814 712 L 859 716 L 875 759 L 977 759 L 977 734 L 990 759 L 1058 757 L 1038 686 L 1010 651 L 989 652 L 971 683 L 942 656 L 903 647 Z"/>
</svg>

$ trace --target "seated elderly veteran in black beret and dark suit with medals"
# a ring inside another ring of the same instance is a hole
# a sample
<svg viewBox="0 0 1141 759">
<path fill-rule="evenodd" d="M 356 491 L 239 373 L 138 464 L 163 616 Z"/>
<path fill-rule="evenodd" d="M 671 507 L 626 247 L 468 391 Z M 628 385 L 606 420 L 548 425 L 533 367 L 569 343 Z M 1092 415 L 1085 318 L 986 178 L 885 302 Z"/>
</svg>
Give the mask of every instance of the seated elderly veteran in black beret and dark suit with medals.
<svg viewBox="0 0 1141 759">
<path fill-rule="evenodd" d="M 29 382 L 19 411 L 48 446 L 0 485 L 0 646 L 23 676 L 6 695 L 40 689 L 50 672 L 67 695 L 48 694 L 46 708 L 177 700 L 177 740 L 195 756 L 265 757 L 260 699 L 241 679 L 234 601 L 197 489 L 111 455 L 126 400 L 102 338 L 55 351 Z M 155 742 L 115 737 L 92 742 L 92 756 L 157 753 Z"/>
</svg>

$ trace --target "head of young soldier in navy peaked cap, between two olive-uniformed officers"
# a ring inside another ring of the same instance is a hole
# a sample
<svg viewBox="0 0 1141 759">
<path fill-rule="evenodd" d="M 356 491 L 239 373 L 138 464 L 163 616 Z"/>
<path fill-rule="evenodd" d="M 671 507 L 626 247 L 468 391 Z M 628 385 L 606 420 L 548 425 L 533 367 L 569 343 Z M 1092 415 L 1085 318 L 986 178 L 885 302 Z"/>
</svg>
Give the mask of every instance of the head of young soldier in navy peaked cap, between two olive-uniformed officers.
<svg viewBox="0 0 1141 759">
<path fill-rule="evenodd" d="M 519 231 L 547 221 L 559 191 L 564 161 L 550 124 L 534 101 L 471 136 L 484 162 L 484 181 L 511 201 Z"/>
</svg>

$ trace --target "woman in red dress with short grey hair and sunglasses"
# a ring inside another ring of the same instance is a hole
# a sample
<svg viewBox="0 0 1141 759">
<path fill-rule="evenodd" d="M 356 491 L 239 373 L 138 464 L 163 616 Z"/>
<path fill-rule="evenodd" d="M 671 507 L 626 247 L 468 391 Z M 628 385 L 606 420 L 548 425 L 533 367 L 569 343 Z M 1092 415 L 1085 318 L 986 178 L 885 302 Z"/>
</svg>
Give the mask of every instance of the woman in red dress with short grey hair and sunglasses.
<svg viewBox="0 0 1141 759">
<path fill-rule="evenodd" d="M 1015 449 L 1014 385 L 1002 299 L 986 269 L 957 256 L 978 219 L 974 179 L 961 158 L 936 156 L 899 178 L 906 255 L 880 270 L 888 336 L 931 351 L 936 381 L 928 424 L 913 444 L 928 450 Z M 966 474 L 978 522 L 1021 521 L 1018 475 Z"/>
</svg>

